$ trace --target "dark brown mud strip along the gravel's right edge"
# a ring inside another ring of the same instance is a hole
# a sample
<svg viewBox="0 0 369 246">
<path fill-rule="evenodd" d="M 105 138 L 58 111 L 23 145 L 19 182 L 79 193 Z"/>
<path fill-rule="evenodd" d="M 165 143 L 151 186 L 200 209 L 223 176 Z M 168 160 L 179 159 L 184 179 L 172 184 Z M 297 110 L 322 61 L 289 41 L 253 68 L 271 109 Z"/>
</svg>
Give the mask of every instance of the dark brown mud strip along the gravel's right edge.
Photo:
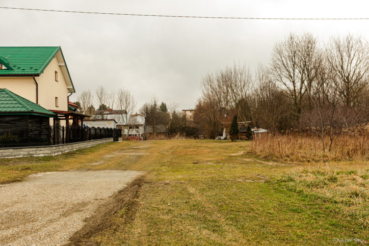
<svg viewBox="0 0 369 246">
<path fill-rule="evenodd" d="M 123 209 L 126 211 L 123 224 L 132 221 L 139 206 L 137 198 L 144 180 L 145 176 L 137 178 L 99 206 L 91 217 L 86 218 L 84 227 L 76 231 L 65 245 L 95 245 L 91 237 L 113 226 L 114 218 Z"/>
</svg>

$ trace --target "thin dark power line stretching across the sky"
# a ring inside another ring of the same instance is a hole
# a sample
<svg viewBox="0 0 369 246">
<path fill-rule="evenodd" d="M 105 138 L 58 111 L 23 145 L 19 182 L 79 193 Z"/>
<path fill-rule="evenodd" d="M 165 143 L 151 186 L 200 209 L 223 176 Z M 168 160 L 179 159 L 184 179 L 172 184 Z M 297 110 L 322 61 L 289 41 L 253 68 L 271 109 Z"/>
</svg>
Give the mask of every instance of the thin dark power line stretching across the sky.
<svg viewBox="0 0 369 246">
<path fill-rule="evenodd" d="M 369 20 L 369 18 L 262 18 L 262 17 L 221 17 L 221 16 L 186 16 L 186 15 L 153 15 L 153 14 L 124 14 L 124 13 L 104 13 L 104 12 L 85 12 L 52 9 L 28 9 L 0 7 L 0 9 L 32 10 L 45 12 L 79 13 L 79 14 L 99 14 L 99 15 L 129 15 L 129 16 L 152 16 L 152 17 L 171 17 L 171 18 L 202 18 L 202 19 L 244 19 L 244 20 Z"/>
</svg>

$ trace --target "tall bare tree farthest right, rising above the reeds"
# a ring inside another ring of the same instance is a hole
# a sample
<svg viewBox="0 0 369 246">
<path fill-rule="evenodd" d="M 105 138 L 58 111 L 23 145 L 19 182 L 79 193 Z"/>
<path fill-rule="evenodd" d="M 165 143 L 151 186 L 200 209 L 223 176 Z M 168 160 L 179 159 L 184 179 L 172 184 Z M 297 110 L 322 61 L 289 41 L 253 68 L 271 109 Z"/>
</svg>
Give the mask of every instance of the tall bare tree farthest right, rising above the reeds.
<svg viewBox="0 0 369 246">
<path fill-rule="evenodd" d="M 355 108 L 369 78 L 369 46 L 361 37 L 349 34 L 332 37 L 326 45 L 326 58 L 334 72 L 334 86 L 347 109 Z"/>
</svg>

